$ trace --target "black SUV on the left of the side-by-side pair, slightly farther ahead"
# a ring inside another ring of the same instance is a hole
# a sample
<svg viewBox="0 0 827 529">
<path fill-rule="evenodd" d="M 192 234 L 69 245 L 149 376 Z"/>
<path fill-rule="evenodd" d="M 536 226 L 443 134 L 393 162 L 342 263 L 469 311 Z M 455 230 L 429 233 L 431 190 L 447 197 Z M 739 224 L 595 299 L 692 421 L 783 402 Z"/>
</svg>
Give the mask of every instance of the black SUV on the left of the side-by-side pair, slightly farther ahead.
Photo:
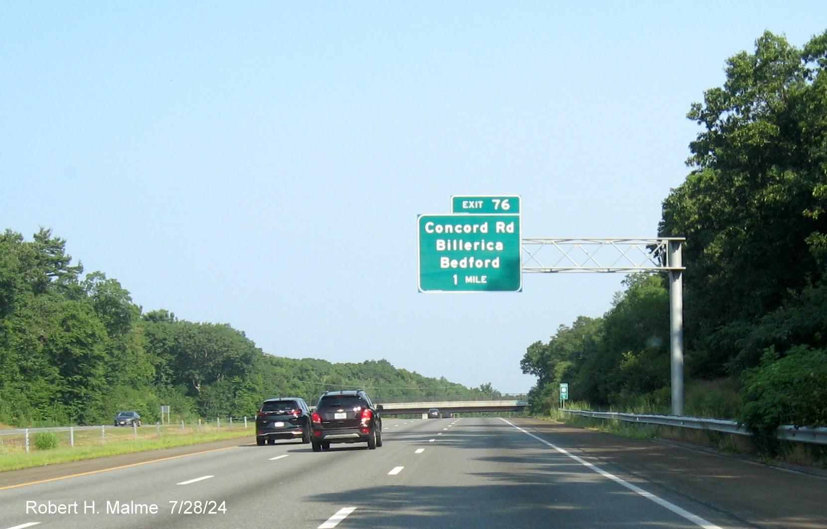
<svg viewBox="0 0 827 529">
<path fill-rule="evenodd" d="M 310 442 L 310 408 L 298 397 L 268 398 L 256 414 L 256 444 L 265 441 L 275 445 L 276 439 L 298 439 Z"/>
</svg>

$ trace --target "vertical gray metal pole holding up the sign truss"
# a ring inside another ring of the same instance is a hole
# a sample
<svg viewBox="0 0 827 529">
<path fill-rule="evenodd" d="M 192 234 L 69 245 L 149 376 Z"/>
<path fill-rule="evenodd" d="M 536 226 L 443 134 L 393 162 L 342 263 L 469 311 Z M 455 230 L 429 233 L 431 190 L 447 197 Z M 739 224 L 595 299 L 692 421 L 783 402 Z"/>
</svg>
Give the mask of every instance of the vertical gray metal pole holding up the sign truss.
<svg viewBox="0 0 827 529">
<path fill-rule="evenodd" d="M 683 272 L 681 241 L 669 241 L 669 345 L 672 352 L 672 415 L 683 415 Z"/>
</svg>

